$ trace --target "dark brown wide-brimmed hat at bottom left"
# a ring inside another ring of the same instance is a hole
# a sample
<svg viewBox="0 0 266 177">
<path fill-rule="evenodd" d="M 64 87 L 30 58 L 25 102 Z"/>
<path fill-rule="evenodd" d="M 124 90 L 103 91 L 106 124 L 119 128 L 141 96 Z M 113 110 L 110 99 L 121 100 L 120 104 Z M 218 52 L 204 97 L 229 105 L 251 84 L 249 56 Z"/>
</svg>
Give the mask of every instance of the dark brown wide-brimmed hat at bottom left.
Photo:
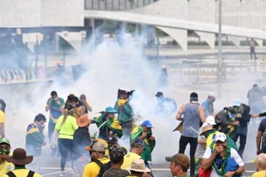
<svg viewBox="0 0 266 177">
<path fill-rule="evenodd" d="M 27 156 L 24 149 L 17 148 L 14 150 L 12 156 L 6 156 L 6 161 L 15 165 L 27 165 L 33 161 L 33 156 Z"/>
</svg>

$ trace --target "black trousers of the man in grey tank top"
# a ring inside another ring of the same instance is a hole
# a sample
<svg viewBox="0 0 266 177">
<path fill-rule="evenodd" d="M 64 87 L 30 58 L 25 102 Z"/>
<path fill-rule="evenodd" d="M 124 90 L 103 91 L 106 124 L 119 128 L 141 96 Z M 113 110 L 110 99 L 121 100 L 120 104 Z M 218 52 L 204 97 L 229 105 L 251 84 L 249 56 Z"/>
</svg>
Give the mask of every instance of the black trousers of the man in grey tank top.
<svg viewBox="0 0 266 177">
<path fill-rule="evenodd" d="M 190 156 L 191 156 L 191 176 L 195 175 L 195 153 L 196 153 L 196 149 L 197 149 L 197 145 L 198 145 L 198 138 L 192 138 L 192 137 L 186 137 L 186 136 L 182 136 L 180 137 L 179 140 L 179 154 L 184 154 L 185 150 L 186 150 L 186 145 L 188 145 L 188 143 L 191 146 L 190 149 Z"/>
</svg>

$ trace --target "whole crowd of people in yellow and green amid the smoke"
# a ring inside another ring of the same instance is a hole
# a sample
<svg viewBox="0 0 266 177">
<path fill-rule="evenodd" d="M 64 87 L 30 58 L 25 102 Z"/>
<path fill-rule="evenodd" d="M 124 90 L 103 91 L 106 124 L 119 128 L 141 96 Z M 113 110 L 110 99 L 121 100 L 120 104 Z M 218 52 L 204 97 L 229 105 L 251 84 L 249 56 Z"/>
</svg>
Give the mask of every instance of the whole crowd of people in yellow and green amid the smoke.
<svg viewBox="0 0 266 177">
<path fill-rule="evenodd" d="M 149 162 L 156 146 L 151 120 L 142 119 L 136 124 L 134 109 L 130 104 L 134 90 L 118 90 L 114 107 L 106 107 L 92 119 L 90 102 L 85 95 L 68 95 L 65 101 L 56 91 L 46 102 L 49 111 L 48 141 L 51 155 L 60 155 L 60 176 L 67 176 L 65 164 L 71 162 L 73 176 L 126 177 L 154 176 Z M 166 156 L 173 176 L 242 176 L 245 171 L 243 154 L 248 136 L 250 118 L 264 117 L 264 92 L 253 85 L 248 92 L 249 104 L 236 99 L 232 106 L 214 113 L 216 96 L 208 94 L 199 104 L 198 94 L 191 92 L 189 102 L 182 104 L 176 113 L 180 121 L 176 129 L 181 132 L 179 154 Z M 176 112 L 174 100 L 164 98 L 162 92 L 155 95 L 158 109 Z M 258 104 L 260 100 L 260 104 Z M 261 105 L 262 104 L 262 105 Z M 43 134 L 46 116 L 37 114 L 26 129 L 26 149 L 14 149 L 4 134 L 4 100 L 0 100 L 0 176 L 41 176 L 42 147 L 46 145 Z M 253 122 L 254 123 L 254 122 Z M 97 132 L 90 134 L 89 126 L 95 124 Z M 236 142 L 240 139 L 239 146 Z M 129 149 L 120 146 L 117 139 L 129 140 Z M 257 131 L 257 172 L 253 177 L 266 176 L 266 119 L 262 119 Z M 189 155 L 186 146 L 190 144 Z"/>
</svg>

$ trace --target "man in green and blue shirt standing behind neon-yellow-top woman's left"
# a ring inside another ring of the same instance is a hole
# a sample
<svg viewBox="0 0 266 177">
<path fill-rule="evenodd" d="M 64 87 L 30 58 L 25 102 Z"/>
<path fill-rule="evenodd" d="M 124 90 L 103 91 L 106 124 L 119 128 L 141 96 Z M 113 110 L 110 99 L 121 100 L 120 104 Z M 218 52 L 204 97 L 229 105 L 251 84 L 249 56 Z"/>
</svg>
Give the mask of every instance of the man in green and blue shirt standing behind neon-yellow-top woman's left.
<svg viewBox="0 0 266 177">
<path fill-rule="evenodd" d="M 51 140 L 53 131 L 55 129 L 55 124 L 58 118 L 62 115 L 64 104 L 65 104 L 65 101 L 63 100 L 63 98 L 58 97 L 57 92 L 55 91 L 50 92 L 50 98 L 48 99 L 46 103 L 46 112 L 50 110 L 49 123 L 48 123 L 49 141 Z M 56 149 L 52 149 L 52 155 L 54 155 L 55 152 L 56 152 Z"/>
</svg>

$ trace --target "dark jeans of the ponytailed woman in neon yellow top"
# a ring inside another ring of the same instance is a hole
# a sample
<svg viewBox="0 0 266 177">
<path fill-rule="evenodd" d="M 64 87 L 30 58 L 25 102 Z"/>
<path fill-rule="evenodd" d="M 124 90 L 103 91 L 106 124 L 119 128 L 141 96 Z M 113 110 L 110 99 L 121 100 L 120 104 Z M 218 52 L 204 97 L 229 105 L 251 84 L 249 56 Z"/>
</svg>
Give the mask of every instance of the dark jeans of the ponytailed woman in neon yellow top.
<svg viewBox="0 0 266 177">
<path fill-rule="evenodd" d="M 73 139 L 58 139 L 59 151 L 61 154 L 60 167 L 61 171 L 65 171 L 65 163 L 68 159 L 68 154 L 72 154 L 73 151 Z M 72 156 L 71 156 L 72 159 Z"/>
</svg>

